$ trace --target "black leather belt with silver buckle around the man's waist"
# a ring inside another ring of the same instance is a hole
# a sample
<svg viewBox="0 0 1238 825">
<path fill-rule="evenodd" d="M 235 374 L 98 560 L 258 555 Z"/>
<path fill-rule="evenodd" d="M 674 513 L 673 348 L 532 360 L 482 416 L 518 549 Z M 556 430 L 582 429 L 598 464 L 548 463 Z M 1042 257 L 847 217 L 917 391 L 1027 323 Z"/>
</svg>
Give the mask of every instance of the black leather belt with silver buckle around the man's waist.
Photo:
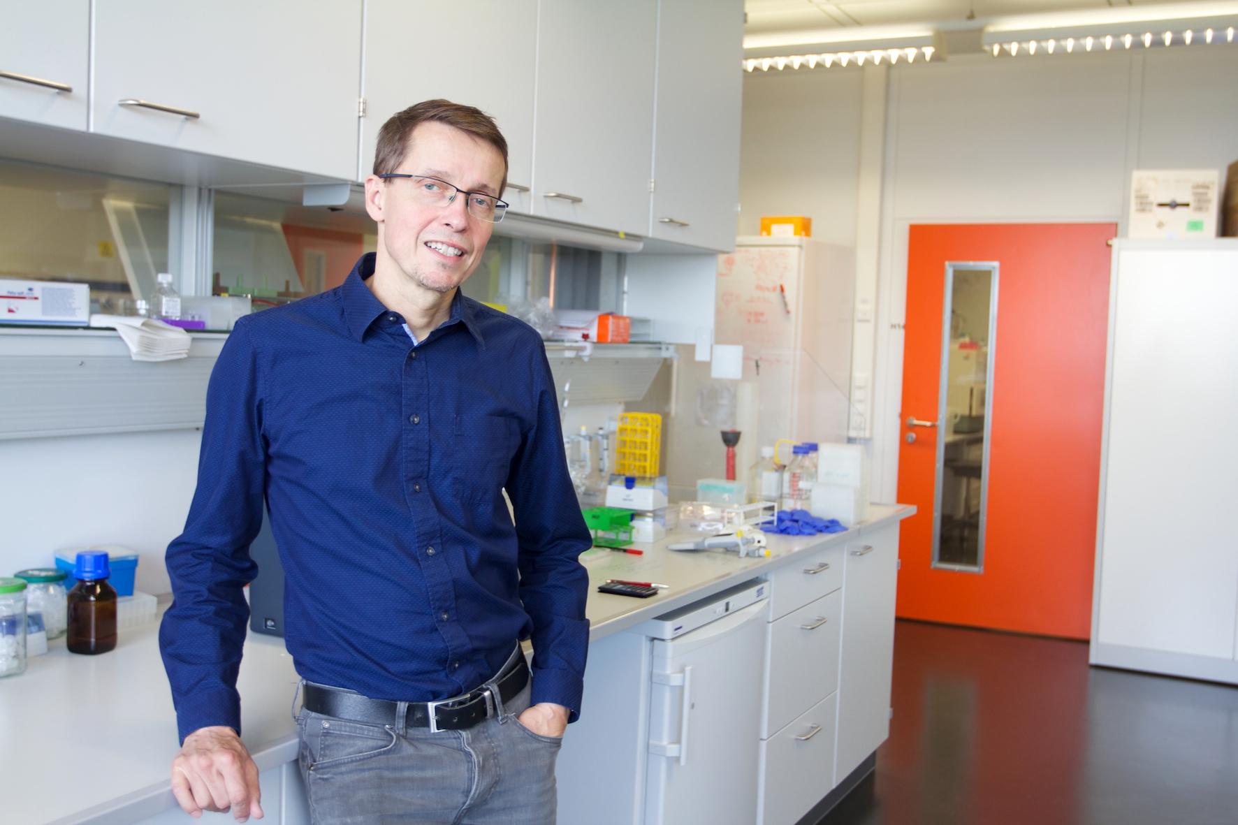
<svg viewBox="0 0 1238 825">
<path fill-rule="evenodd" d="M 516 659 L 515 666 L 506 665 L 493 683 L 498 686 L 499 696 L 504 704 L 515 699 L 516 694 L 529 684 L 529 665 L 519 648 L 514 658 Z M 385 699 L 370 699 L 308 681 L 302 689 L 302 705 L 306 710 L 323 716 L 334 716 L 368 725 L 395 726 L 399 722 L 400 704 Z M 452 696 L 436 702 L 409 702 L 409 710 L 405 712 L 405 726 L 428 727 L 433 732 L 463 731 L 490 718 L 496 711 L 498 706 L 489 685 L 482 685 L 462 696 Z"/>
</svg>

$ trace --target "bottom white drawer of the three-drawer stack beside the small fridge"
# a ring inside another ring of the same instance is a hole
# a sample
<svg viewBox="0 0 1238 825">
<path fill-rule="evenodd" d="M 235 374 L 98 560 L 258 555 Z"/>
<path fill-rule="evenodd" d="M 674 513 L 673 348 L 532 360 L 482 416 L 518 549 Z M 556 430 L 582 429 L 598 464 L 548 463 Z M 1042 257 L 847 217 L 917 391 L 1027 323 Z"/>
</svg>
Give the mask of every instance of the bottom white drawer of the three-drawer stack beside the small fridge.
<svg viewBox="0 0 1238 825">
<path fill-rule="evenodd" d="M 761 742 L 758 825 L 795 825 L 829 790 L 837 710 L 833 692 Z"/>
</svg>

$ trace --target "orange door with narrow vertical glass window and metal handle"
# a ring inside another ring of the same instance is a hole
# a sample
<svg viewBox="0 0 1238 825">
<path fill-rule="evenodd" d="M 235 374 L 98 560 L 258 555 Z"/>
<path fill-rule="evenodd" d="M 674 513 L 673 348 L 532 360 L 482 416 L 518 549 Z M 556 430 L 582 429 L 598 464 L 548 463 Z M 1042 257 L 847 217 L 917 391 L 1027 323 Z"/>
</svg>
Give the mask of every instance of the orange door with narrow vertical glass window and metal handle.
<svg viewBox="0 0 1238 825">
<path fill-rule="evenodd" d="M 911 227 L 899 616 L 1088 638 L 1115 232 Z"/>
</svg>

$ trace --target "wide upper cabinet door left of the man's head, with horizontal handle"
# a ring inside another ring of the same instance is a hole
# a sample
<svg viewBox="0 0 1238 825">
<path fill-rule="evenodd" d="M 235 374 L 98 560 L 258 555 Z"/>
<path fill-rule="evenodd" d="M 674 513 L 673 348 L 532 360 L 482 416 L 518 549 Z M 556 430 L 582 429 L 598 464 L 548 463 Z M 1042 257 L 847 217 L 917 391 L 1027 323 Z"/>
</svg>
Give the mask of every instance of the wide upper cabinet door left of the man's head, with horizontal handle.
<svg viewBox="0 0 1238 825">
<path fill-rule="evenodd" d="M 361 0 L 97 0 L 93 46 L 93 131 L 357 173 Z"/>
</svg>

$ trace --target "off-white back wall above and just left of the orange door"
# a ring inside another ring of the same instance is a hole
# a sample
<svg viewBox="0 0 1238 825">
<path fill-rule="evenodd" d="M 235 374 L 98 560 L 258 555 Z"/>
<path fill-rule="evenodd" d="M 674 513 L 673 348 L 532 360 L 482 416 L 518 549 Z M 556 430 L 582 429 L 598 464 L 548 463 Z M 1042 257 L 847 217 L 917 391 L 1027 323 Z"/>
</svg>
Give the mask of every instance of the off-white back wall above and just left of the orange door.
<svg viewBox="0 0 1238 825">
<path fill-rule="evenodd" d="M 854 232 L 844 238 L 838 216 L 855 209 L 858 172 L 848 168 L 858 170 L 863 71 L 745 78 L 742 227 L 759 217 L 749 211 L 758 203 L 765 214 L 812 217 L 813 235 L 855 243 Z M 1120 230 L 1132 170 L 1223 168 L 1238 160 L 1238 46 L 1026 59 L 967 55 L 895 66 L 888 77 L 869 446 L 873 498 L 891 502 L 907 228 L 1114 222 Z M 818 216 L 826 217 L 822 230 Z"/>
</svg>

